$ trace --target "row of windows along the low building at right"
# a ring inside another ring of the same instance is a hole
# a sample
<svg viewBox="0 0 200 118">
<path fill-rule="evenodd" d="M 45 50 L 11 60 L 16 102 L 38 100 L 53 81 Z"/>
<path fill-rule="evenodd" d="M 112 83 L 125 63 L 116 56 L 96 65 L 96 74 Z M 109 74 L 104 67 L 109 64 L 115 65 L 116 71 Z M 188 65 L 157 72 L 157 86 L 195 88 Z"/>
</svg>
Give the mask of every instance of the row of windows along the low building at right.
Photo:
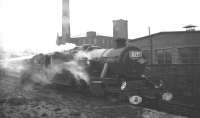
<svg viewBox="0 0 200 118">
<path fill-rule="evenodd" d="M 152 58 L 151 51 L 144 50 L 143 55 L 150 64 Z M 173 58 L 177 59 L 176 63 L 197 64 L 200 63 L 200 47 L 178 48 L 176 52 L 172 49 L 157 49 L 154 50 L 153 57 L 154 64 L 174 64 L 175 62 L 172 61 Z"/>
</svg>

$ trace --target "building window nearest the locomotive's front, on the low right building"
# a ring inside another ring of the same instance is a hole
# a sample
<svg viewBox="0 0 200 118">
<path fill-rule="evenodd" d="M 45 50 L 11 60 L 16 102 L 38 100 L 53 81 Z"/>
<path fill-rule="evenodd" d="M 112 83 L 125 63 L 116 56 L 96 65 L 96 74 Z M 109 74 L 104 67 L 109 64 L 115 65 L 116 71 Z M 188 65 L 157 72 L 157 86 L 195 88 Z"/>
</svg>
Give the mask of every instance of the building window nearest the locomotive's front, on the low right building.
<svg viewBox="0 0 200 118">
<path fill-rule="evenodd" d="M 158 64 L 172 64 L 172 54 L 169 49 L 159 49 L 155 52 Z"/>
</svg>

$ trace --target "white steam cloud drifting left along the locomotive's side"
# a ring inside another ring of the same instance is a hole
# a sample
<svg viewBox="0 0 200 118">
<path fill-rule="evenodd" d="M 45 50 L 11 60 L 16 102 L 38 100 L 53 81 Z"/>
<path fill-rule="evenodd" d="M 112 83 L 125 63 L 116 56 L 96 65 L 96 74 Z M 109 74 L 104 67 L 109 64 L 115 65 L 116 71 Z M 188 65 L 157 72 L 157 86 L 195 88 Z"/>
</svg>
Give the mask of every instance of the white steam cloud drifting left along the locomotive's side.
<svg viewBox="0 0 200 118">
<path fill-rule="evenodd" d="M 64 46 L 58 50 L 61 51 L 62 49 L 64 49 Z M 85 71 L 84 65 L 79 64 L 76 59 L 61 64 L 52 64 L 44 68 L 40 66 L 31 67 L 29 61 L 32 57 L 26 56 L 0 60 L 0 86 L 4 86 L 4 91 L 11 93 L 16 89 L 29 91 L 37 83 L 40 85 L 51 84 L 55 75 L 62 73 L 63 70 L 73 74 L 77 82 L 82 79 L 89 84 L 89 76 Z"/>
</svg>

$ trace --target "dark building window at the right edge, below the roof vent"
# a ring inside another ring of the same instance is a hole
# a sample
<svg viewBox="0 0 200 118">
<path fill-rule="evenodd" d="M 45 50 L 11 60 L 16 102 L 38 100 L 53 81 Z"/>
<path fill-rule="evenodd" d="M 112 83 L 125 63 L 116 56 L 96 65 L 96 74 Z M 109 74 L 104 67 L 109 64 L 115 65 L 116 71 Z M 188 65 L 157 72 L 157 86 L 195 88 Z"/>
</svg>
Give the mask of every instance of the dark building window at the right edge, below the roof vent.
<svg viewBox="0 0 200 118">
<path fill-rule="evenodd" d="M 179 48 L 178 53 L 181 63 L 200 63 L 200 47 Z"/>
</svg>

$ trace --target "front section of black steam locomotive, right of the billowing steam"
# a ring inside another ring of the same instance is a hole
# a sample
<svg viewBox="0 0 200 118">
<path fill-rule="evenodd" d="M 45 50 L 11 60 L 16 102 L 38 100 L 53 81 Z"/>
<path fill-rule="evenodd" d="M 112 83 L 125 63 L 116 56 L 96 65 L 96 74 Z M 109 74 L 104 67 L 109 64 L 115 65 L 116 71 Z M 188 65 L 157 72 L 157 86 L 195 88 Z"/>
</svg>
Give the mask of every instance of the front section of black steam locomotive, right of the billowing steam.
<svg viewBox="0 0 200 118">
<path fill-rule="evenodd" d="M 137 47 L 116 49 L 94 49 L 91 59 L 85 59 L 90 74 L 89 90 L 99 96 L 129 99 L 140 104 L 145 99 L 172 99 L 172 94 L 163 90 L 162 84 L 155 84 L 145 75 L 146 60 Z M 89 63 L 88 63 L 89 61 Z"/>
</svg>

